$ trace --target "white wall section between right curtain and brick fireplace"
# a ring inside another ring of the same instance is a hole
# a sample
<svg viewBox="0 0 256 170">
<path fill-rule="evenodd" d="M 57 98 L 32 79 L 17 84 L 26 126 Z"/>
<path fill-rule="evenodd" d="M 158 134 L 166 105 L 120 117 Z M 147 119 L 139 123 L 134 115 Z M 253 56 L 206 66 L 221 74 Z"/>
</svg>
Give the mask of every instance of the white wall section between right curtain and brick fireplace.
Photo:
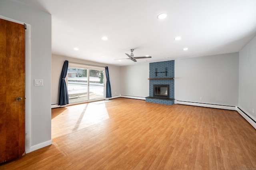
<svg viewBox="0 0 256 170">
<path fill-rule="evenodd" d="M 121 67 L 121 95 L 149 96 L 149 63 Z"/>
</svg>

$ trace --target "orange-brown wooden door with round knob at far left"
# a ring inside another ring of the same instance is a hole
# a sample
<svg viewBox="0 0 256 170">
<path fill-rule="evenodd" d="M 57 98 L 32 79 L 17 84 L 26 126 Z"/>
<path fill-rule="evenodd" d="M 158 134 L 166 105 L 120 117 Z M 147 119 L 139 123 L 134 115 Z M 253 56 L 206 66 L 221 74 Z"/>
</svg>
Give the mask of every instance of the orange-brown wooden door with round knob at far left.
<svg viewBox="0 0 256 170">
<path fill-rule="evenodd" d="M 0 163 L 24 152 L 25 29 L 0 19 Z"/>
</svg>

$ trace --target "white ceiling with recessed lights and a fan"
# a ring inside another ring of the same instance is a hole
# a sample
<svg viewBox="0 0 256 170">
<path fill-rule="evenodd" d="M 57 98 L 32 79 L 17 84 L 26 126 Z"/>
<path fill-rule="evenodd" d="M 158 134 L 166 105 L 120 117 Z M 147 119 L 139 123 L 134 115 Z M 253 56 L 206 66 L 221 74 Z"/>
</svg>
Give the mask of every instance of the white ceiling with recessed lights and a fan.
<svg viewBox="0 0 256 170">
<path fill-rule="evenodd" d="M 256 0 L 16 1 L 52 15 L 52 53 L 118 66 L 238 52 L 256 36 Z M 130 49 L 152 58 L 122 59 Z"/>
</svg>

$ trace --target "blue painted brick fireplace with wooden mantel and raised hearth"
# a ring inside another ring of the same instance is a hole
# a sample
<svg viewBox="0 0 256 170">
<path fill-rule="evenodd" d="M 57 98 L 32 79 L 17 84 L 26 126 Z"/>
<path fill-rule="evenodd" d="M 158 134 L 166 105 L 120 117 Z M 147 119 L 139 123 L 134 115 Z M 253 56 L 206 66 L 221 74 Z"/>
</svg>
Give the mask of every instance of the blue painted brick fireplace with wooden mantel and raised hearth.
<svg viewBox="0 0 256 170">
<path fill-rule="evenodd" d="M 174 60 L 149 63 L 149 97 L 146 102 L 174 104 Z M 154 97 L 154 85 L 168 85 L 168 97 Z"/>
</svg>

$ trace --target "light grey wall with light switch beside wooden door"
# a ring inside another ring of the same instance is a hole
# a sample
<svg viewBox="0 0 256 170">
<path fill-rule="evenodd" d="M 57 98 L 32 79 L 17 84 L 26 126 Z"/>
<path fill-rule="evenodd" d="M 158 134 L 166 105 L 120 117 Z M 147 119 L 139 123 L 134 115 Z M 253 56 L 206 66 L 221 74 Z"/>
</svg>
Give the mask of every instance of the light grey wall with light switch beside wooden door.
<svg viewBox="0 0 256 170">
<path fill-rule="evenodd" d="M 51 144 L 51 15 L 0 0 L 1 18 L 28 24 L 26 30 L 26 152 Z M 29 37 L 29 38 L 28 38 Z M 29 50 L 28 50 L 29 49 Z M 44 86 L 34 86 L 43 79 Z"/>
</svg>

